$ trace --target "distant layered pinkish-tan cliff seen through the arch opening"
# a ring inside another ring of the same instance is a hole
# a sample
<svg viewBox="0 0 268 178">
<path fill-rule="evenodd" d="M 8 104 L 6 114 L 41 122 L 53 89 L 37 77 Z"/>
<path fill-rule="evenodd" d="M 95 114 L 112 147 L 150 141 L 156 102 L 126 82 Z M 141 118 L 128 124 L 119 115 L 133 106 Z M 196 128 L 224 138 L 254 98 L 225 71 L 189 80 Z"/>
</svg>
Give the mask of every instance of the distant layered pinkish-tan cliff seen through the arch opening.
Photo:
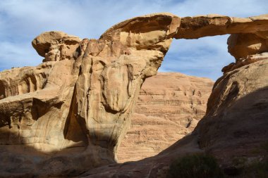
<svg viewBox="0 0 268 178">
<path fill-rule="evenodd" d="M 128 132 L 118 147 L 120 163 L 147 158 L 193 131 L 205 115 L 214 82 L 181 73 L 157 73 L 142 85 Z"/>
</svg>

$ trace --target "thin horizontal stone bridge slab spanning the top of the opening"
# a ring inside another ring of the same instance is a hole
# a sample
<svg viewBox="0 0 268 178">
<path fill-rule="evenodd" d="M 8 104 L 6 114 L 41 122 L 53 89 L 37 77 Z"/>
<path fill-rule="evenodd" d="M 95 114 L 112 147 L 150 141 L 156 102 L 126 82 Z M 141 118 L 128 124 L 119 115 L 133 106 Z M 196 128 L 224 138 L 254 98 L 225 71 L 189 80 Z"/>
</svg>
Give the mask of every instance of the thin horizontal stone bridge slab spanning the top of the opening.
<svg viewBox="0 0 268 178">
<path fill-rule="evenodd" d="M 181 18 L 181 25 L 174 35 L 176 39 L 197 39 L 221 34 L 267 32 L 268 14 L 251 18 L 232 18 L 210 14 Z"/>
</svg>

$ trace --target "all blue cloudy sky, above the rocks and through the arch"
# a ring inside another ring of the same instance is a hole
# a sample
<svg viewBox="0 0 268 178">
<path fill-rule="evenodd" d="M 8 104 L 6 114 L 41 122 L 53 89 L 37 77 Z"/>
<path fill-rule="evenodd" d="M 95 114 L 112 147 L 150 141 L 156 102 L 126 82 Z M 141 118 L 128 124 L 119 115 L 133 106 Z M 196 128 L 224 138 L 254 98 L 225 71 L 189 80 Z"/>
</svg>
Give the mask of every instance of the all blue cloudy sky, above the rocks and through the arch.
<svg viewBox="0 0 268 178">
<path fill-rule="evenodd" d="M 57 30 L 80 38 L 99 38 L 111 25 L 156 12 L 178 16 L 218 13 L 249 17 L 268 13 L 267 0 L 1 0 L 0 70 L 38 65 L 42 57 L 31 46 L 38 34 Z M 221 68 L 234 61 L 227 52 L 229 35 L 173 40 L 159 71 L 217 80 Z"/>
</svg>

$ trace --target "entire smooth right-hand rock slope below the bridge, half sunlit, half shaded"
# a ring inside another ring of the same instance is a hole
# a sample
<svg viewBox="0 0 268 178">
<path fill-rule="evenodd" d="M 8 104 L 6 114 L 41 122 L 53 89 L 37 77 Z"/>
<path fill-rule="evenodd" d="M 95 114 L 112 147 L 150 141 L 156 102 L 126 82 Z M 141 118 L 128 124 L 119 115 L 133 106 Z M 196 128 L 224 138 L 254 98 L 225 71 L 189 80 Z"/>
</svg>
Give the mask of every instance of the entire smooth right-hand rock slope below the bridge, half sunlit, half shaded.
<svg viewBox="0 0 268 178">
<path fill-rule="evenodd" d="M 200 152 L 216 156 L 223 168 L 236 169 L 236 160 L 248 164 L 267 159 L 267 74 L 267 57 L 226 72 L 214 84 L 207 113 L 192 134 L 151 158 L 98 167 L 80 177 L 164 178 L 172 160 Z"/>
</svg>

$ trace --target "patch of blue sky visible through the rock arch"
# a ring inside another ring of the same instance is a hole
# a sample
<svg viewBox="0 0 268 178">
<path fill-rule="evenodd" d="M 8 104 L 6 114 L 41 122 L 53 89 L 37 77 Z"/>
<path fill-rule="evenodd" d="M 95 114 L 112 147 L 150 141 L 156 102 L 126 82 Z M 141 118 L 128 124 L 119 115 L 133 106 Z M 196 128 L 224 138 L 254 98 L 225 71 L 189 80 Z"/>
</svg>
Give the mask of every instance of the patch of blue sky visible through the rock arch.
<svg viewBox="0 0 268 178">
<path fill-rule="evenodd" d="M 229 36 L 173 40 L 158 71 L 181 72 L 216 81 L 222 75 L 221 69 L 234 61 L 228 53 Z"/>
</svg>

